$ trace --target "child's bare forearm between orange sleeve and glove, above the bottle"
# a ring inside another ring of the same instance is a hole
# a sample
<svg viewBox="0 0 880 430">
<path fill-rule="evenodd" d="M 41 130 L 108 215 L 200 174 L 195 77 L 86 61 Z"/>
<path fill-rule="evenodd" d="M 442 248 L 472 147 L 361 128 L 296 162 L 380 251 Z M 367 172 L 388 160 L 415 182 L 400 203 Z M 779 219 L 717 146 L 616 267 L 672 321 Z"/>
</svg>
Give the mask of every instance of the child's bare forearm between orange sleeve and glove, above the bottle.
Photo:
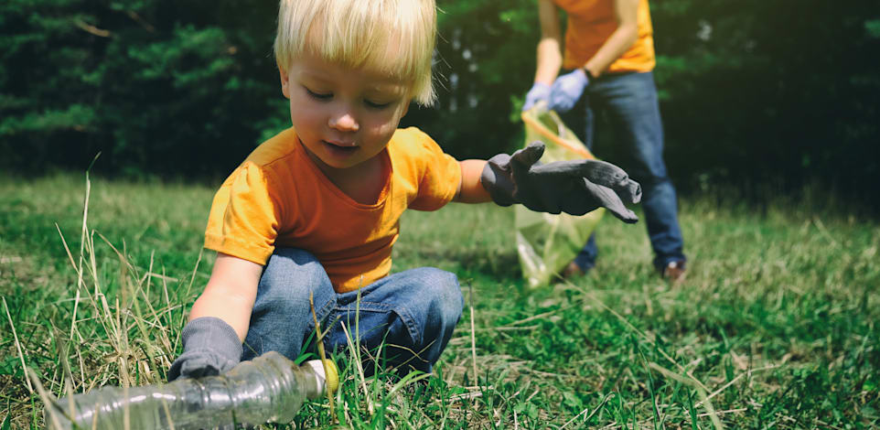
<svg viewBox="0 0 880 430">
<path fill-rule="evenodd" d="M 235 329 L 235 334 L 244 341 L 262 274 L 260 264 L 217 253 L 208 285 L 193 304 L 189 320 L 218 317 Z"/>
</svg>

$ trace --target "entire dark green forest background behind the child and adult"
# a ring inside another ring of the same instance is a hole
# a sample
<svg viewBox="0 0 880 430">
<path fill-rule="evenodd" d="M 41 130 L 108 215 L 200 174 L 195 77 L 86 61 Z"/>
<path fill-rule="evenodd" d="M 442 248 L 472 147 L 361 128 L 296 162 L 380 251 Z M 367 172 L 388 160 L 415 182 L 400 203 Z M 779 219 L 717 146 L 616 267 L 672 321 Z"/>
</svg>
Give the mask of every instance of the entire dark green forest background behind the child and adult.
<svg viewBox="0 0 880 430">
<path fill-rule="evenodd" d="M 438 0 L 439 102 L 416 124 L 457 157 L 522 145 L 534 0 Z M 651 2 L 666 160 L 684 193 L 880 181 L 880 4 Z M 216 183 L 289 124 L 275 1 L 0 2 L 0 169 Z M 600 129 L 601 132 L 601 129 Z M 616 159 L 612 135 L 596 153 Z M 770 190 L 767 193 L 767 190 Z M 868 206 L 877 208 L 875 202 Z"/>
</svg>

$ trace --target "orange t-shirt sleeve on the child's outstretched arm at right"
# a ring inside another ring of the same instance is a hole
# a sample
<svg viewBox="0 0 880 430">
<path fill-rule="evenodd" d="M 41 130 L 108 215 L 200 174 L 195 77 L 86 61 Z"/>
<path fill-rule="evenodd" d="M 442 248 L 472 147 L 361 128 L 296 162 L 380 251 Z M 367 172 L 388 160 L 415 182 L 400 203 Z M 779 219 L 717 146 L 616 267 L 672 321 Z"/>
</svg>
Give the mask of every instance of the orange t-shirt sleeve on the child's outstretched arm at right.
<svg viewBox="0 0 880 430">
<path fill-rule="evenodd" d="M 456 198 L 461 183 L 461 167 L 430 136 L 421 131 L 415 133 L 421 177 L 418 179 L 418 193 L 409 207 L 414 210 L 438 210 Z"/>
</svg>

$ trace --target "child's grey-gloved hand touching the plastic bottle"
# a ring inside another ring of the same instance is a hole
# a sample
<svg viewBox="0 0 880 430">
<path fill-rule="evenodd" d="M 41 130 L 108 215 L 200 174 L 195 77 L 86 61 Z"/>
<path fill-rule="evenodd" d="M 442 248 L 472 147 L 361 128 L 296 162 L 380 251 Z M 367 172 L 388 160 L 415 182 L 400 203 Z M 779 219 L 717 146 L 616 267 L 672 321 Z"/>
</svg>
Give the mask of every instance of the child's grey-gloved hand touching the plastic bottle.
<svg viewBox="0 0 880 430">
<path fill-rule="evenodd" d="M 171 363 L 168 382 L 178 377 L 200 378 L 229 371 L 241 360 L 241 340 L 226 321 L 199 317 L 189 321 L 180 335 L 183 354 Z"/>
</svg>

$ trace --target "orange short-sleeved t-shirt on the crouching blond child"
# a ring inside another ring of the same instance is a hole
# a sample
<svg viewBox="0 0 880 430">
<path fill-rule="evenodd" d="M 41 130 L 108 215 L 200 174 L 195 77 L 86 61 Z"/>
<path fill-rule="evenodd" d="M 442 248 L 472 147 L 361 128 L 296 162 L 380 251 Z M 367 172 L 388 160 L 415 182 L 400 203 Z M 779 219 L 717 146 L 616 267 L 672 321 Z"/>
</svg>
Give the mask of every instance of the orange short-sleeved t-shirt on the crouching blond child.
<svg viewBox="0 0 880 430">
<path fill-rule="evenodd" d="M 265 264 L 276 247 L 313 253 L 338 293 L 387 275 L 403 210 L 437 210 L 456 196 L 461 168 L 431 137 L 397 130 L 383 157 L 375 204 L 337 188 L 293 128 L 258 146 L 214 196 L 205 247 Z"/>
</svg>

